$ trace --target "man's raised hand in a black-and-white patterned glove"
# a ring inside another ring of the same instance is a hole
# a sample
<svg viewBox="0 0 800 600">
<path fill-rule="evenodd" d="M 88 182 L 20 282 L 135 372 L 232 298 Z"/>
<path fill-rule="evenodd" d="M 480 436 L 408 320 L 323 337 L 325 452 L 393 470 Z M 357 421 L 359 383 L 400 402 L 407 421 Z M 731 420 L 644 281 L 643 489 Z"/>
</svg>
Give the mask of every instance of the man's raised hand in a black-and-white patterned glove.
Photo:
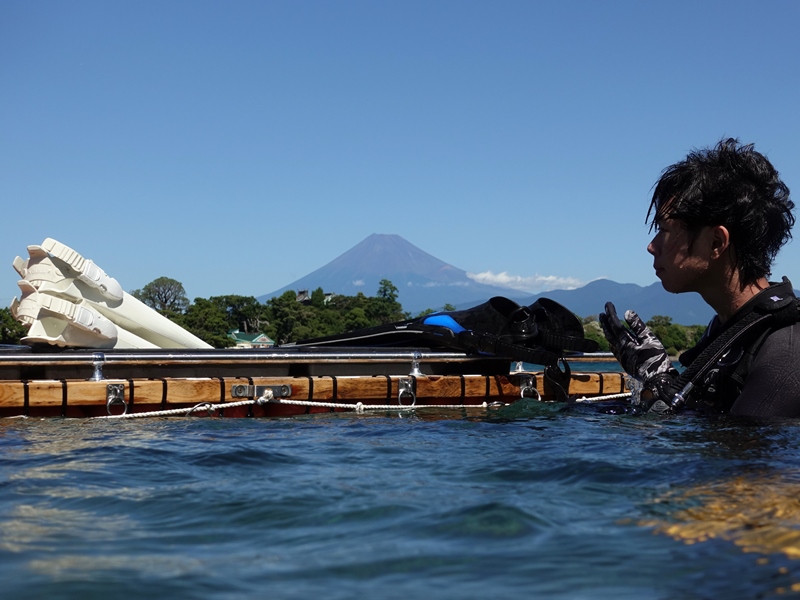
<svg viewBox="0 0 800 600">
<path fill-rule="evenodd" d="M 639 315 L 632 310 L 626 311 L 625 321 L 630 329 L 620 323 L 617 309 L 607 302 L 606 311 L 600 314 L 600 326 L 622 368 L 639 381 L 670 371 L 672 362 L 663 344 Z"/>
</svg>

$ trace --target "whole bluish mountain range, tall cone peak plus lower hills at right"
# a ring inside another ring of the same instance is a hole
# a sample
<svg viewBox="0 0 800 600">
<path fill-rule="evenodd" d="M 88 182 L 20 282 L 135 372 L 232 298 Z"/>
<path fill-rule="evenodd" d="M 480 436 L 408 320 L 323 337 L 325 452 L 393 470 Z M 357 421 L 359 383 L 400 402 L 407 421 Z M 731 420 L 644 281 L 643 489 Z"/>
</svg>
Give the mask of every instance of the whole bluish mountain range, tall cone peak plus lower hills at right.
<svg viewBox="0 0 800 600">
<path fill-rule="evenodd" d="M 468 308 L 492 296 L 505 296 L 520 304 L 531 304 L 536 298 L 546 296 L 582 317 L 600 313 L 606 302 L 613 302 L 620 315 L 630 308 L 644 320 L 664 315 L 682 325 L 705 325 L 714 314 L 698 294 L 669 294 L 658 282 L 642 287 L 598 279 L 574 290 L 552 290 L 535 296 L 484 285 L 470 279 L 466 271 L 431 256 L 399 235 L 377 233 L 313 273 L 258 300 L 265 302 L 288 290 L 311 292 L 317 288 L 347 296 L 358 292 L 373 296 L 381 279 L 388 279 L 397 287 L 399 302 L 412 315 L 428 308 L 440 310 L 445 304 Z"/>
</svg>

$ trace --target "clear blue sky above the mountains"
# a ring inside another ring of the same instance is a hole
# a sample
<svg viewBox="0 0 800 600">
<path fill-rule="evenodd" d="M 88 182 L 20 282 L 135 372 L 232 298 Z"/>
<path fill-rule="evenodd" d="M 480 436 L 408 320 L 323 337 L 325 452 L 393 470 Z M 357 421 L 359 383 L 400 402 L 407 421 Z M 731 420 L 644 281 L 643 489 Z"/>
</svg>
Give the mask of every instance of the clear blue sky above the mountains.
<svg viewBox="0 0 800 600">
<path fill-rule="evenodd" d="M 692 148 L 754 142 L 800 190 L 798 25 L 795 0 L 4 0 L 0 302 L 46 237 L 190 299 L 371 233 L 534 293 L 648 285 L 651 188 Z"/>
</svg>

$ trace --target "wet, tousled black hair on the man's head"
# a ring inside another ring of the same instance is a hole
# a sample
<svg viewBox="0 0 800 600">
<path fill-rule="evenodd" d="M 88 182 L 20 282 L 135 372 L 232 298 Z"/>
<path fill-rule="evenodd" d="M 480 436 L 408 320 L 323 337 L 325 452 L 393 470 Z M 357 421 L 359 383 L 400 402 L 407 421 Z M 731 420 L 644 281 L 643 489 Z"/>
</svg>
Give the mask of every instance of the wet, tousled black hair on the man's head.
<svg viewBox="0 0 800 600">
<path fill-rule="evenodd" d="M 725 226 L 745 285 L 769 277 L 775 256 L 792 238 L 789 188 L 753 144 L 728 138 L 694 150 L 664 169 L 654 188 L 645 219 L 651 231 L 660 221 L 675 219 L 693 241 L 702 227 Z"/>
</svg>

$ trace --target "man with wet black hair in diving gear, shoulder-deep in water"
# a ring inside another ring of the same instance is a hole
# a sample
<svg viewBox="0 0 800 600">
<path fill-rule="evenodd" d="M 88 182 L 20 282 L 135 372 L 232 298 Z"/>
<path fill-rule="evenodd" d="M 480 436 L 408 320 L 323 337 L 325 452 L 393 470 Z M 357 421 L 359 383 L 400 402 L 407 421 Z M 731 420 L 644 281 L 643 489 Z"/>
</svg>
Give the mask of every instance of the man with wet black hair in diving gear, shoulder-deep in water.
<svg viewBox="0 0 800 600">
<path fill-rule="evenodd" d="M 793 210 L 789 188 L 752 144 L 724 140 L 664 170 L 646 219 L 656 276 L 668 292 L 698 292 L 717 314 L 681 355 L 679 374 L 635 312 L 626 327 L 606 304 L 600 324 L 643 383 L 645 410 L 800 416 L 799 305 L 788 279 L 767 279 L 791 239 Z"/>
</svg>

